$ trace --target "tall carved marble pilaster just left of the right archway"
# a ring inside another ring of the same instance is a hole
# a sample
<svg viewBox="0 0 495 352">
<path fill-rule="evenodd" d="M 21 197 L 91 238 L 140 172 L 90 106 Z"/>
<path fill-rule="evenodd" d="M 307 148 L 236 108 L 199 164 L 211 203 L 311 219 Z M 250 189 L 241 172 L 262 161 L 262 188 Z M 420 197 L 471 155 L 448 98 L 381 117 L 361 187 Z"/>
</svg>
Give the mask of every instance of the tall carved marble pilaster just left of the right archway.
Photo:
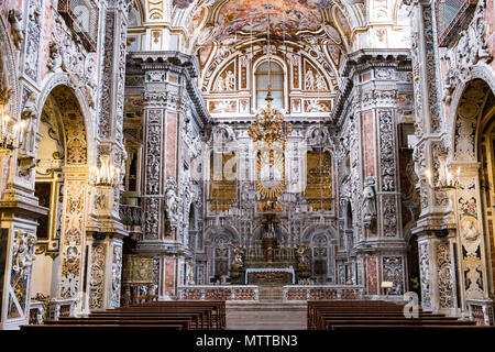
<svg viewBox="0 0 495 352">
<path fill-rule="evenodd" d="M 420 197 L 420 215 L 413 233 L 418 235 L 421 280 L 421 305 L 425 310 L 457 314 L 458 274 L 454 258 L 457 221 L 451 195 L 436 189 L 449 141 L 440 133 L 442 105 L 439 54 L 436 35 L 435 7 L 428 1 L 410 4 L 413 28 L 413 75 L 415 89 L 415 172 Z M 459 251 L 459 249 L 458 249 Z"/>
</svg>

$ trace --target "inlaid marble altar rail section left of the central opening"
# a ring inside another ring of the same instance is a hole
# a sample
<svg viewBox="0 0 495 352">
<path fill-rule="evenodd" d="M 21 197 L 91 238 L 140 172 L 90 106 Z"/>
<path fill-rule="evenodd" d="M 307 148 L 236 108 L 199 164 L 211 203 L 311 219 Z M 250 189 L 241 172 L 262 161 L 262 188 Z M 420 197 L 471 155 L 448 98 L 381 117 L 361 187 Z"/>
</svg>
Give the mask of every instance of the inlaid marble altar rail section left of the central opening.
<svg viewBox="0 0 495 352">
<path fill-rule="evenodd" d="M 255 285 L 193 285 L 178 287 L 179 299 L 258 300 Z"/>
</svg>

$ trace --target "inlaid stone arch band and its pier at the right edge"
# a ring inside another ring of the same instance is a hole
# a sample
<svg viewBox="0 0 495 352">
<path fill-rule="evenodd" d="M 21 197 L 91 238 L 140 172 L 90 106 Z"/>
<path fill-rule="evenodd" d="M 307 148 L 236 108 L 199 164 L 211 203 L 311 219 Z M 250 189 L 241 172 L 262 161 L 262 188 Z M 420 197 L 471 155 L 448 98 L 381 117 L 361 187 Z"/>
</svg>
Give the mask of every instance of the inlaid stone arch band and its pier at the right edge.
<svg viewBox="0 0 495 352">
<path fill-rule="evenodd" d="M 491 290 L 487 264 L 492 233 L 486 223 L 487 212 L 482 189 L 483 165 L 480 158 L 480 125 L 486 114 L 490 98 L 495 92 L 493 72 L 484 65 L 471 70 L 470 80 L 454 90 L 451 105 L 449 158 L 451 168 L 462 168 L 454 194 L 457 238 L 459 242 L 460 282 L 463 309 L 468 299 L 485 299 Z M 481 167 L 482 166 L 482 167 Z M 493 277 L 492 277 L 493 278 Z"/>
</svg>

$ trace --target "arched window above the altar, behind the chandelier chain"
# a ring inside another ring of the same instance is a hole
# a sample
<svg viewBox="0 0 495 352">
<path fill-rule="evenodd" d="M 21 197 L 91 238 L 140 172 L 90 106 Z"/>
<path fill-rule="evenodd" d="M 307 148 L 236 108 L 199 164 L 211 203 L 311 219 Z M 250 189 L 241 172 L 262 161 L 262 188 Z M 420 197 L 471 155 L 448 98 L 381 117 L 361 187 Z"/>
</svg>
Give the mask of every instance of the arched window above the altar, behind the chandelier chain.
<svg viewBox="0 0 495 352">
<path fill-rule="evenodd" d="M 265 98 L 268 94 L 268 82 L 271 80 L 272 107 L 284 109 L 284 70 L 280 65 L 272 62 L 268 66 L 268 63 L 263 63 L 257 67 L 254 75 L 256 77 L 256 107 L 266 107 Z"/>
</svg>

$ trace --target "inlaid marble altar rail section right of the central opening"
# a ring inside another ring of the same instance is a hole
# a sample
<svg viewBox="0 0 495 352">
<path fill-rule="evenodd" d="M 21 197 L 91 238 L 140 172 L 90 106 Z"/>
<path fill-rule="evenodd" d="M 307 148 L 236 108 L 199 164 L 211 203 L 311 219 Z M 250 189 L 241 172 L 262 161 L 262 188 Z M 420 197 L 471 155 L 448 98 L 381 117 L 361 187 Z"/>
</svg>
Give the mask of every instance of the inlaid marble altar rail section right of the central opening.
<svg viewBox="0 0 495 352">
<path fill-rule="evenodd" d="M 364 286 L 288 285 L 283 293 L 284 300 L 363 299 Z"/>
</svg>

